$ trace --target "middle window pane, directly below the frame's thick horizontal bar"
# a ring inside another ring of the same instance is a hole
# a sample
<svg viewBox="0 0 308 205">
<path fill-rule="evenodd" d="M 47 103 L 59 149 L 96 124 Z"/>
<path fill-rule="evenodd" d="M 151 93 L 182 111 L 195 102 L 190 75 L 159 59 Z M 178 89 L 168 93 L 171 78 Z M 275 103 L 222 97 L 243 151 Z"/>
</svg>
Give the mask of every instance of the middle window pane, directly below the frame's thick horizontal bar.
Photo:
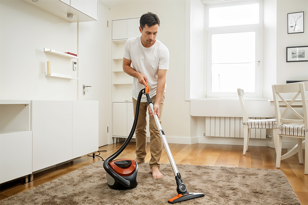
<svg viewBox="0 0 308 205">
<path fill-rule="evenodd" d="M 255 32 L 212 34 L 213 63 L 255 62 Z"/>
</svg>

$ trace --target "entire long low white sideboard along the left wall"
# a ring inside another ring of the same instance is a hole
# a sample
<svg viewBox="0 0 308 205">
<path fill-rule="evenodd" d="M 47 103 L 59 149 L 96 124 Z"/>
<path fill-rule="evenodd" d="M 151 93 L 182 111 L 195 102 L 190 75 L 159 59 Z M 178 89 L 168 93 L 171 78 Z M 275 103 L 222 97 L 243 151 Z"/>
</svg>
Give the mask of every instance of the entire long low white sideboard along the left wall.
<svg viewBox="0 0 308 205">
<path fill-rule="evenodd" d="M 98 150 L 98 101 L 0 103 L 0 183 Z"/>
</svg>

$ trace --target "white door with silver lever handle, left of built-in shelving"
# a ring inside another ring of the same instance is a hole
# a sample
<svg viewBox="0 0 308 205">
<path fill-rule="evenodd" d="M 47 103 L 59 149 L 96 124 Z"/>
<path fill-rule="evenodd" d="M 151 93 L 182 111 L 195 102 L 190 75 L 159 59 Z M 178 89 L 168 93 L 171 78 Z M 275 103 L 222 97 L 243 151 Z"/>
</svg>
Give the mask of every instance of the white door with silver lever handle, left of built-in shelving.
<svg viewBox="0 0 308 205">
<path fill-rule="evenodd" d="M 98 3 L 98 21 L 79 22 L 78 100 L 99 101 L 99 146 L 111 141 L 111 43 L 110 11 Z M 83 85 L 91 86 L 85 89 Z"/>
</svg>

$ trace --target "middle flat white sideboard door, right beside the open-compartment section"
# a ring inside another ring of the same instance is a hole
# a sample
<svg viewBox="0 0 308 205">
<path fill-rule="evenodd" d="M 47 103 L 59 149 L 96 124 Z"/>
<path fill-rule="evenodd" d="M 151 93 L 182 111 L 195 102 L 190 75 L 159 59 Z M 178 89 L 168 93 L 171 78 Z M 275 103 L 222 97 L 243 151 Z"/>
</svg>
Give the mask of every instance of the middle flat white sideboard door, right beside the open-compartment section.
<svg viewBox="0 0 308 205">
<path fill-rule="evenodd" d="M 32 101 L 32 170 L 72 159 L 72 101 Z"/>
</svg>

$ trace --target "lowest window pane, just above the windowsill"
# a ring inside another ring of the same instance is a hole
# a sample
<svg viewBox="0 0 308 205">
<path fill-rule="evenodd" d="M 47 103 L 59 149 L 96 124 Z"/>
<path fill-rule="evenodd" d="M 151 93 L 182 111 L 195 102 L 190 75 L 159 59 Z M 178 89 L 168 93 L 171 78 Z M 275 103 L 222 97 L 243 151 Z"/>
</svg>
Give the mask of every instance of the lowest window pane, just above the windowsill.
<svg viewBox="0 0 308 205">
<path fill-rule="evenodd" d="M 255 92 L 255 63 L 212 64 L 212 92 Z"/>
</svg>

